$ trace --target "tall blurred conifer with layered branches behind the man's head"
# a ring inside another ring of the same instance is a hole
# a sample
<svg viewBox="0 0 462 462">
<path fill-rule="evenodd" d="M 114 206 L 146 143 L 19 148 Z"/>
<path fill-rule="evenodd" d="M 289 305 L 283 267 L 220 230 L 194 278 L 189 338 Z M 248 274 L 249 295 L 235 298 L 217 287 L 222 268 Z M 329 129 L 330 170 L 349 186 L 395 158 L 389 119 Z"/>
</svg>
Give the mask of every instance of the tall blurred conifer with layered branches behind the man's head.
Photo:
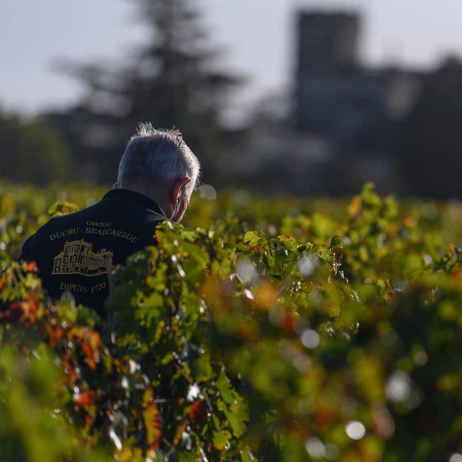
<svg viewBox="0 0 462 462">
<path fill-rule="evenodd" d="M 126 66 L 61 63 L 86 91 L 78 107 L 48 118 L 70 140 L 85 179 L 112 181 L 128 137 L 140 121 L 150 121 L 180 129 L 207 181 L 217 180 L 220 113 L 241 80 L 213 69 L 217 50 L 209 47 L 191 0 L 135 1 L 148 26 L 146 45 Z M 92 162 L 100 166 L 93 173 Z"/>
</svg>

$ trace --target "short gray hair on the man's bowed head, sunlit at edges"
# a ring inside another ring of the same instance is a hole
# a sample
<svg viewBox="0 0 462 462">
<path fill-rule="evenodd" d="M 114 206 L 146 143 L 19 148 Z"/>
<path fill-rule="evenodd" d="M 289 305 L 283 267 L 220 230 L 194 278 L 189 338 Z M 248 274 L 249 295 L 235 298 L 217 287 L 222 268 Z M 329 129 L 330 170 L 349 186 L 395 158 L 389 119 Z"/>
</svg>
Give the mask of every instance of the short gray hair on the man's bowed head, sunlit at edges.
<svg viewBox="0 0 462 462">
<path fill-rule="evenodd" d="M 153 128 L 148 123 L 140 123 L 136 133 L 130 138 L 120 160 L 117 181 L 144 177 L 153 183 L 169 186 L 176 179 L 188 177 L 188 196 L 199 181 L 200 163 L 175 128 Z"/>
</svg>

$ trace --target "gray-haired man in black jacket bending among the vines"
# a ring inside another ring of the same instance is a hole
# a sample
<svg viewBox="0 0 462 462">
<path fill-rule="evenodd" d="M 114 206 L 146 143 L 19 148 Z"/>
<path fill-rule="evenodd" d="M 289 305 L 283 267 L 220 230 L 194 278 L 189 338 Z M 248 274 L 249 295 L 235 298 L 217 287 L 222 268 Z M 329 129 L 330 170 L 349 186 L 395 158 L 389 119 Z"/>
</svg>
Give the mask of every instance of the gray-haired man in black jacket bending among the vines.
<svg viewBox="0 0 462 462">
<path fill-rule="evenodd" d="M 22 247 L 53 298 L 69 291 L 105 316 L 108 273 L 128 255 L 155 245 L 155 227 L 179 222 L 199 178 L 199 160 L 176 130 L 140 124 L 119 164 L 117 182 L 100 202 L 52 218 Z"/>
</svg>

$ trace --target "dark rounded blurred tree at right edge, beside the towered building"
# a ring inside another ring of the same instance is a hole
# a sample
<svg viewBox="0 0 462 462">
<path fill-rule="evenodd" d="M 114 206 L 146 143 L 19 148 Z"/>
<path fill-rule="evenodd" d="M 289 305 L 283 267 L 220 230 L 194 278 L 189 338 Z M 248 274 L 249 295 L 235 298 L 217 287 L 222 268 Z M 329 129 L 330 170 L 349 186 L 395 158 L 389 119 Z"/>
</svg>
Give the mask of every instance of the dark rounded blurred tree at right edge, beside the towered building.
<svg viewBox="0 0 462 462">
<path fill-rule="evenodd" d="M 460 197 L 462 63 L 449 58 L 422 85 L 403 126 L 403 173 L 409 193 Z"/>
</svg>

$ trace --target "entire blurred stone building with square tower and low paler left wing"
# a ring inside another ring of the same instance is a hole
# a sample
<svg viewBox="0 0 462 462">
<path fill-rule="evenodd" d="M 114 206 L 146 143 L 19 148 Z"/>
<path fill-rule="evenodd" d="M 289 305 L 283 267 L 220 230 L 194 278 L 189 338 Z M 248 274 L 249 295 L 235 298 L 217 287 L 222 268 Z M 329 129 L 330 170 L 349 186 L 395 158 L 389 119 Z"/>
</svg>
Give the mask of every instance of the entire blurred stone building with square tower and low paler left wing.
<svg viewBox="0 0 462 462">
<path fill-rule="evenodd" d="M 229 153 L 239 175 L 301 194 L 352 193 L 366 181 L 414 193 L 402 169 L 403 127 L 426 74 L 366 67 L 360 37 L 358 14 L 298 15 L 294 88 L 256 108 L 245 148 Z"/>
</svg>

